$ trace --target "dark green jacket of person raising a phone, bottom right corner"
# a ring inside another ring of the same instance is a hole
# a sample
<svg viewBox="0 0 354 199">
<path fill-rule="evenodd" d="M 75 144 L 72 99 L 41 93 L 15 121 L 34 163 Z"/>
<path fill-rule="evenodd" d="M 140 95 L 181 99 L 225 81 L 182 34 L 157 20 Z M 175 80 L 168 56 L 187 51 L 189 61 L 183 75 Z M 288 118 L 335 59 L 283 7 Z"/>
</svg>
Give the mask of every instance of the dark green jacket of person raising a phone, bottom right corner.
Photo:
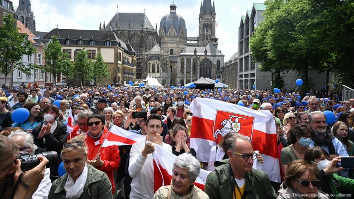
<svg viewBox="0 0 354 199">
<path fill-rule="evenodd" d="M 337 174 L 326 176 L 323 170 L 321 171 L 321 176 L 323 177 L 323 181 L 328 181 L 336 199 L 343 198 L 339 193 L 354 194 L 354 179 L 342 177 Z"/>
</svg>

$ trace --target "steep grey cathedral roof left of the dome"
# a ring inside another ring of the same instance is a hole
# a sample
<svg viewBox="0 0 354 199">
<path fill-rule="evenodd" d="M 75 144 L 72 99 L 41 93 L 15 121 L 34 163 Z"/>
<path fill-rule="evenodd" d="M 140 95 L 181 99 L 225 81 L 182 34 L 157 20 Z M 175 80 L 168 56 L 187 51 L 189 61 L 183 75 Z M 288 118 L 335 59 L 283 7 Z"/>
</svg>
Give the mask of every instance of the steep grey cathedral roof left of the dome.
<svg viewBox="0 0 354 199">
<path fill-rule="evenodd" d="M 118 13 L 118 16 L 114 14 L 111 21 L 106 25 L 105 30 L 110 30 L 111 26 L 112 29 L 131 28 L 155 30 L 145 13 Z"/>
</svg>

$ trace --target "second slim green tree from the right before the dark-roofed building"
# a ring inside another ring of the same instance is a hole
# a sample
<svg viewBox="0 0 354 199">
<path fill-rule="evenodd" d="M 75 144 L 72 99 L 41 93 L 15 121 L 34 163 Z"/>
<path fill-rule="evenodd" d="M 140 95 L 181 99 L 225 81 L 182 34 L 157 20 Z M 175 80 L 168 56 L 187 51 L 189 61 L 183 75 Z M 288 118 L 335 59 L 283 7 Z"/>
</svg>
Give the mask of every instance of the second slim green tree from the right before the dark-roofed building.
<svg viewBox="0 0 354 199">
<path fill-rule="evenodd" d="M 81 86 L 84 81 L 89 81 L 94 78 L 93 73 L 93 61 L 87 57 L 87 52 L 85 48 L 82 48 L 74 58 L 74 71 L 76 77 L 79 77 L 81 80 Z"/>
</svg>

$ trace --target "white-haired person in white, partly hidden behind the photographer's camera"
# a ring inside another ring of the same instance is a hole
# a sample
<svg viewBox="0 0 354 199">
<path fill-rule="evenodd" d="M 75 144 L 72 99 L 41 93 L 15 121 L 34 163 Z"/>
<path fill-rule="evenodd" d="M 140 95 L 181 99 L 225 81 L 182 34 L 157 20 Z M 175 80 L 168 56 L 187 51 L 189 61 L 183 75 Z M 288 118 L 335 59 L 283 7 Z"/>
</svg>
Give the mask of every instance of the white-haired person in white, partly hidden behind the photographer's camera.
<svg viewBox="0 0 354 199">
<path fill-rule="evenodd" d="M 34 155 L 37 150 L 37 146 L 34 144 L 33 136 L 30 133 L 24 132 L 22 130 L 17 130 L 12 132 L 9 135 L 10 139 L 14 141 L 19 150 L 30 155 Z M 46 168 L 45 176 L 40 181 L 37 190 L 33 193 L 31 198 L 48 198 L 49 190 L 52 186 L 52 182 L 50 179 L 51 170 L 50 168 Z"/>
</svg>

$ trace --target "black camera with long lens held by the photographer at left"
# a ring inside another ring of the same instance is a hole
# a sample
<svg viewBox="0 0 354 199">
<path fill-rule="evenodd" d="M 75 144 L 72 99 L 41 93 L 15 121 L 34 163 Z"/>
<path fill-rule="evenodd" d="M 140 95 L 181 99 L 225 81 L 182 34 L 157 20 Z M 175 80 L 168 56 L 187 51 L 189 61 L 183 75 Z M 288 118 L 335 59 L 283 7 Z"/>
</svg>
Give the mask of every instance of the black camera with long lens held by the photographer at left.
<svg viewBox="0 0 354 199">
<path fill-rule="evenodd" d="M 49 160 L 46 168 L 51 168 L 54 163 L 58 161 L 58 154 L 57 152 L 43 152 L 39 154 L 30 155 L 26 152 L 20 152 L 17 156 L 17 159 L 21 161 L 21 170 L 22 171 L 29 171 L 39 165 L 40 160 L 38 156 L 44 156 Z"/>
</svg>

